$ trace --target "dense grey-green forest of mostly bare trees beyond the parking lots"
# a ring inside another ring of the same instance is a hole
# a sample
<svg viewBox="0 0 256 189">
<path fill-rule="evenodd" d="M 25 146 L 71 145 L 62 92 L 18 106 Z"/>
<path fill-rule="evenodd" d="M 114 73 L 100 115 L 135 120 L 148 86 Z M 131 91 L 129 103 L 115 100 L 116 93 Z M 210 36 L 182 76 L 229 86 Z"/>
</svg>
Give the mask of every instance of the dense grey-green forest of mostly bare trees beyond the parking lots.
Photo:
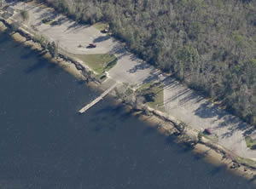
<svg viewBox="0 0 256 189">
<path fill-rule="evenodd" d="M 44 0 L 256 124 L 256 1 Z"/>
</svg>

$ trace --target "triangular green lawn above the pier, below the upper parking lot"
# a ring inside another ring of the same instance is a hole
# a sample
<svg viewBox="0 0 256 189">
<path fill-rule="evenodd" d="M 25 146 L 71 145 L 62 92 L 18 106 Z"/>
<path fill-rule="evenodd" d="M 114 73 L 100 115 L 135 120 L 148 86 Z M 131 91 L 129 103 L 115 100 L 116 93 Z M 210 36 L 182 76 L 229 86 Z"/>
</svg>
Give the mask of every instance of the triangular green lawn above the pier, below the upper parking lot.
<svg viewBox="0 0 256 189">
<path fill-rule="evenodd" d="M 79 60 L 97 72 L 97 75 L 102 76 L 105 71 L 109 71 L 116 65 L 117 58 L 113 54 L 73 54 Z"/>
</svg>

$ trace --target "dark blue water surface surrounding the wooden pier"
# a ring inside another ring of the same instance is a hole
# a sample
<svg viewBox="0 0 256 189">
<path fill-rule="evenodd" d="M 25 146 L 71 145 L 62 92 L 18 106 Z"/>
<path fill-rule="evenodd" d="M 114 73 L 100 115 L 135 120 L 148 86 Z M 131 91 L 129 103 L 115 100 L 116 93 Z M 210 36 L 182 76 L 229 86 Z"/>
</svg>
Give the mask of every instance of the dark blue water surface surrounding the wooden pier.
<svg viewBox="0 0 256 189">
<path fill-rule="evenodd" d="M 0 35 L 0 188 L 253 188 Z"/>
</svg>

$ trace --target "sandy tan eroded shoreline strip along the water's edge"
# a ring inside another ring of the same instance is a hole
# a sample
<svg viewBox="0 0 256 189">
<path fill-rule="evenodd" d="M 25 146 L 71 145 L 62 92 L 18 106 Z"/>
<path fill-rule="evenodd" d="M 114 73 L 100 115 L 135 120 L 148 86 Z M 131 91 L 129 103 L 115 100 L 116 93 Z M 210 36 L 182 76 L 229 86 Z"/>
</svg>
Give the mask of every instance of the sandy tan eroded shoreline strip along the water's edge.
<svg viewBox="0 0 256 189">
<path fill-rule="evenodd" d="M 4 23 L 5 22 L 5 23 Z M 8 30 L 9 23 L 6 20 L 0 20 L 0 32 L 5 32 Z M 45 52 L 45 49 L 41 47 L 39 43 L 36 43 L 32 40 L 32 34 L 29 32 L 22 31 L 22 29 L 18 32 L 9 33 L 9 35 L 15 40 L 17 43 L 22 43 L 25 47 L 30 48 L 31 50 L 37 51 L 39 54 Z M 88 80 L 91 78 L 87 78 L 84 76 L 83 72 L 90 72 L 88 68 L 79 64 L 79 61 L 73 60 L 73 58 L 68 57 L 66 54 L 61 54 L 56 58 L 52 58 L 49 52 L 46 52 L 43 57 L 49 62 L 54 63 L 58 66 L 61 66 L 65 71 L 72 74 L 74 77 L 80 80 Z M 79 68 L 79 69 L 78 69 Z M 102 89 L 99 83 L 96 81 L 87 81 L 87 85 L 92 88 Z M 115 94 L 111 93 L 114 97 Z M 218 146 L 216 144 L 212 144 L 210 140 L 204 139 L 197 144 L 191 146 L 191 136 L 197 136 L 197 133 L 193 129 L 186 129 L 186 134 L 181 135 L 180 131 L 177 129 L 178 121 L 175 121 L 175 117 L 168 117 L 164 113 L 156 111 L 147 106 L 143 106 L 146 108 L 150 115 L 145 115 L 143 110 L 134 111 L 132 107 L 122 100 L 115 100 L 117 104 L 124 105 L 127 111 L 131 112 L 131 115 L 138 116 L 138 118 L 148 123 L 152 127 L 156 127 L 156 129 L 162 134 L 166 136 L 175 135 L 177 143 L 188 144 L 191 147 L 191 152 L 195 154 L 199 154 L 199 156 L 206 160 L 208 163 L 211 163 L 216 166 L 224 166 L 227 170 L 229 170 L 232 174 L 239 175 L 241 177 L 246 178 L 247 180 L 253 180 L 253 183 L 256 184 L 256 180 L 254 180 L 254 175 L 256 175 L 256 168 L 250 167 L 247 164 L 238 163 L 235 159 L 226 157 L 229 152 L 227 152 L 223 147 Z M 189 138 L 186 138 L 189 137 Z M 188 140 L 190 139 L 190 140 Z M 207 152 L 207 153 L 206 153 Z M 224 158 L 226 157 L 226 158 Z M 239 167 L 236 167 L 239 164 Z M 245 171 L 246 170 L 246 171 Z"/>
</svg>

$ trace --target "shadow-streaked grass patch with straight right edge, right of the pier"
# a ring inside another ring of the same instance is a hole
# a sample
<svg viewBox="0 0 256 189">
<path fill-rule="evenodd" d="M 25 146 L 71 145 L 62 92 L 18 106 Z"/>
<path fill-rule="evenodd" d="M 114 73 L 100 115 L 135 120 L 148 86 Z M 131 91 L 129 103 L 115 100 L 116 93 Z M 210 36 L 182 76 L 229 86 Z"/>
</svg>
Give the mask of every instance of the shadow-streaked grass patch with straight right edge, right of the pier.
<svg viewBox="0 0 256 189">
<path fill-rule="evenodd" d="M 145 83 L 142 87 L 137 89 L 137 92 L 144 95 L 146 100 L 147 96 L 150 95 L 150 100 L 148 100 L 146 105 L 160 111 L 165 111 L 164 85 L 162 83 Z"/>
</svg>

